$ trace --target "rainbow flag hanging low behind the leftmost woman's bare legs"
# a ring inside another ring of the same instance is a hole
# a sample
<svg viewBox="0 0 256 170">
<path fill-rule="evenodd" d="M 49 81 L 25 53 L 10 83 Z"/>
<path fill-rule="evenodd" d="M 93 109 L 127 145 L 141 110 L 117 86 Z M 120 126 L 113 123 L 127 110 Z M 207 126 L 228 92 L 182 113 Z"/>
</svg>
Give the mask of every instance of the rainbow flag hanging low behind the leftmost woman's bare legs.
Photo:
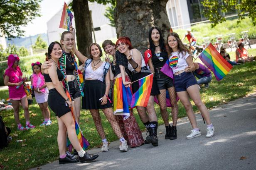
<svg viewBox="0 0 256 170">
<path fill-rule="evenodd" d="M 69 92 L 66 90 L 66 95 L 68 96 L 69 100 L 71 101 L 71 97 L 70 97 L 70 94 Z M 74 110 L 73 110 L 73 107 L 70 108 L 71 109 L 71 113 L 72 113 L 72 116 L 73 116 L 73 119 L 74 119 L 74 122 L 75 122 L 75 129 L 76 129 L 76 135 L 77 135 L 77 139 L 81 145 L 81 147 L 83 149 L 86 149 L 90 144 L 89 142 L 85 139 L 78 123 L 76 122 L 76 118 L 74 116 Z M 69 148 L 69 151 L 72 151 L 72 145 L 71 145 L 71 142 L 69 141 L 69 138 L 67 136 L 67 147 Z"/>
</svg>

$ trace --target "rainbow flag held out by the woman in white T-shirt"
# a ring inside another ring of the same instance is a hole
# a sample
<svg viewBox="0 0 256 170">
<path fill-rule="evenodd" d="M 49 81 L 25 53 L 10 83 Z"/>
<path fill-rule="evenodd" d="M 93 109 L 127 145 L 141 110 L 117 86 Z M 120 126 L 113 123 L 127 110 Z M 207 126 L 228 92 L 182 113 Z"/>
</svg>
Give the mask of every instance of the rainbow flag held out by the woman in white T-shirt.
<svg viewBox="0 0 256 170">
<path fill-rule="evenodd" d="M 214 73 L 217 81 L 223 79 L 226 74 L 232 69 L 232 65 L 227 62 L 222 55 L 214 48 L 212 43 L 209 43 L 206 48 L 199 54 L 199 58 L 204 65 Z"/>
</svg>

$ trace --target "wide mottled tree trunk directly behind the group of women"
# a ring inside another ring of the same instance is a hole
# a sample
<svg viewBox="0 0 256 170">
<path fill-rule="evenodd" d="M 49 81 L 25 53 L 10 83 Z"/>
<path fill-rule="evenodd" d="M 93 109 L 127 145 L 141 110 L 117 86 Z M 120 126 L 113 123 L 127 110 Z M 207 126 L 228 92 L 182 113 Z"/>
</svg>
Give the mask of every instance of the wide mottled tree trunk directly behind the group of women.
<svg viewBox="0 0 256 170">
<path fill-rule="evenodd" d="M 170 31 L 166 4 L 168 0 L 117 0 L 114 12 L 117 37 L 128 36 L 134 48 L 148 48 L 148 31 L 158 26 L 164 38 Z"/>
</svg>

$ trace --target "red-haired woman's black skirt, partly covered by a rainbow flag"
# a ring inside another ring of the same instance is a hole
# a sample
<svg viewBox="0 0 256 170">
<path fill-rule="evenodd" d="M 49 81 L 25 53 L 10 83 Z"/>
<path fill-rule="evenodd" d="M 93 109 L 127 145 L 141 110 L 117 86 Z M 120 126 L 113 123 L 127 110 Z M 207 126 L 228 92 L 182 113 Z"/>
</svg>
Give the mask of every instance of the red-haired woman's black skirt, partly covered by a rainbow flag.
<svg viewBox="0 0 256 170">
<path fill-rule="evenodd" d="M 151 74 L 151 73 L 144 73 L 144 72 L 135 73 L 132 75 L 131 81 L 136 81 L 136 80 L 143 78 L 149 74 Z M 138 91 L 138 89 L 140 87 L 139 81 L 134 82 L 132 85 L 133 85 L 133 93 L 135 93 L 136 91 Z M 160 94 L 160 91 L 158 89 L 158 85 L 155 82 L 155 78 L 153 78 L 153 84 L 152 84 L 150 96 L 156 96 L 158 94 Z"/>
</svg>

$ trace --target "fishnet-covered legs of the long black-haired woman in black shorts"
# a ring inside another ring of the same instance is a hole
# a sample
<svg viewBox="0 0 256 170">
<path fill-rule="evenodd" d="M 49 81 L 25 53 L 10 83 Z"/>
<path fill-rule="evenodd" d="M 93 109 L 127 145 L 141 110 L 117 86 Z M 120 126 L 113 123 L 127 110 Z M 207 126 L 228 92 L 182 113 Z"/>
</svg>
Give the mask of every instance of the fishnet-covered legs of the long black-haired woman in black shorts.
<svg viewBox="0 0 256 170">
<path fill-rule="evenodd" d="M 176 92 L 174 87 L 170 87 L 167 89 L 169 92 L 170 96 L 170 102 L 172 105 L 172 126 L 177 125 L 177 120 L 178 120 L 178 113 L 179 113 L 179 108 L 178 104 L 176 101 Z M 165 123 L 165 126 L 169 125 L 169 115 L 167 113 L 167 108 L 166 108 L 166 90 L 162 89 L 160 90 L 160 94 L 158 95 L 158 102 L 160 106 L 160 111 L 162 115 L 162 119 Z"/>
</svg>

